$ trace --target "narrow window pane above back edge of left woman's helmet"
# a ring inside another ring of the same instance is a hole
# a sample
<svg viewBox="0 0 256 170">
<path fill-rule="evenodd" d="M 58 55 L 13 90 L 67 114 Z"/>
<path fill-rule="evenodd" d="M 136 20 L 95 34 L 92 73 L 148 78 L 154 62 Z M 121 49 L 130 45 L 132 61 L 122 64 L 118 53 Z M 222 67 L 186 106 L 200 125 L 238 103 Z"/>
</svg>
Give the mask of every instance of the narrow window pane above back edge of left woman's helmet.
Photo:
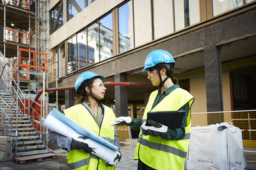
<svg viewBox="0 0 256 170">
<path fill-rule="evenodd" d="M 86 29 L 77 34 L 77 69 L 86 66 Z"/>
</svg>

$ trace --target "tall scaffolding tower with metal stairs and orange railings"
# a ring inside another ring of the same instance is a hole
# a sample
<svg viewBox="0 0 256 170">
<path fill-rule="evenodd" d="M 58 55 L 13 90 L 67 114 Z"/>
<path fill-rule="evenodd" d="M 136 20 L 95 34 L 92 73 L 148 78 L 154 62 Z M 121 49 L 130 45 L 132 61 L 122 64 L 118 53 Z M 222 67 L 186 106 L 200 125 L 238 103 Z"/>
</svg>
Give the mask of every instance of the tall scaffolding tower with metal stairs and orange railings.
<svg viewBox="0 0 256 170">
<path fill-rule="evenodd" d="M 47 129 L 38 121 L 51 105 L 48 94 L 33 101 L 36 92 L 49 84 L 48 1 L 6 0 L 0 6 L 4 14 L 0 60 L 5 66 L 0 70 L 0 131 L 12 136 L 15 157 L 48 153 Z"/>
</svg>

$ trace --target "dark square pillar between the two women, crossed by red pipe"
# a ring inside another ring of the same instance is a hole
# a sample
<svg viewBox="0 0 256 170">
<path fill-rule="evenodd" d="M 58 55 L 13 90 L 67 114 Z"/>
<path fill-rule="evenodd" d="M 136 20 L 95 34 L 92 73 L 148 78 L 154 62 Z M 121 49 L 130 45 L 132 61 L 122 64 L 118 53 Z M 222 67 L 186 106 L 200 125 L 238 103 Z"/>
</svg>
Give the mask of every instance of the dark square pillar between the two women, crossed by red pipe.
<svg viewBox="0 0 256 170">
<path fill-rule="evenodd" d="M 126 74 L 115 74 L 116 82 L 125 82 Z M 115 85 L 115 112 L 116 117 L 128 116 L 128 101 L 125 86 Z"/>
</svg>

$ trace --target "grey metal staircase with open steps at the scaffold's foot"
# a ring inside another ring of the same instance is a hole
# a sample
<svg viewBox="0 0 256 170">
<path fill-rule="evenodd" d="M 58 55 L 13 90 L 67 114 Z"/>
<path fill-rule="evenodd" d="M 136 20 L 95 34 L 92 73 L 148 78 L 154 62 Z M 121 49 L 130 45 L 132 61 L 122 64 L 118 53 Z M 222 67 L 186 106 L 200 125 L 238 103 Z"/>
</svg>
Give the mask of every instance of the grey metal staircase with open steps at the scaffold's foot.
<svg viewBox="0 0 256 170">
<path fill-rule="evenodd" d="M 49 153 L 44 141 L 31 122 L 28 114 L 17 108 L 17 103 L 6 93 L 0 82 L 0 135 L 12 136 L 15 157 Z"/>
</svg>

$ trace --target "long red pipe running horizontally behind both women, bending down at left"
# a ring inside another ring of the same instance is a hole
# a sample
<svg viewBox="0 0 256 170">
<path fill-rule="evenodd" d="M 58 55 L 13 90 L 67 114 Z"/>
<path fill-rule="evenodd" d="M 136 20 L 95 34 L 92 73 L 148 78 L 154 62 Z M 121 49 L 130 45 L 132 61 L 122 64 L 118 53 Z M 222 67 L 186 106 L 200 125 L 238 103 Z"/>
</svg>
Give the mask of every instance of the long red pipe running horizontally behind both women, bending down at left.
<svg viewBox="0 0 256 170">
<path fill-rule="evenodd" d="M 106 81 L 104 82 L 104 85 L 106 86 L 110 86 L 110 85 L 125 85 L 125 86 L 137 86 L 137 87 L 154 87 L 151 84 L 145 84 L 145 83 L 132 83 L 132 82 L 115 82 L 115 81 Z M 67 87 L 54 87 L 54 88 L 49 88 L 49 89 L 45 89 L 45 92 L 55 92 L 58 90 L 70 90 L 70 89 L 75 89 L 74 86 L 67 86 Z M 36 97 L 33 101 L 33 103 L 30 106 L 30 111 L 29 114 L 31 113 L 31 111 L 33 110 L 32 108 L 34 108 L 36 101 L 38 101 L 39 97 L 41 96 L 41 94 L 44 92 L 43 89 L 38 90 Z"/>
</svg>

